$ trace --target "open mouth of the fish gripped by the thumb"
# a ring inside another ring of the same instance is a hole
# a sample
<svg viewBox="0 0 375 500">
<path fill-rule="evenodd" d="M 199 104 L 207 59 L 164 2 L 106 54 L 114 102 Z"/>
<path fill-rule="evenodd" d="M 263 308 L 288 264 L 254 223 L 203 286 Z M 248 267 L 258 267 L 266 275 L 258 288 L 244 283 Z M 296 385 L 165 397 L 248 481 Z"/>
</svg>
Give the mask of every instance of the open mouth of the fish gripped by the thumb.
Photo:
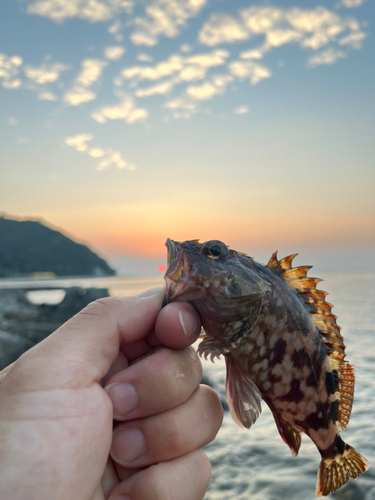
<svg viewBox="0 0 375 500">
<path fill-rule="evenodd" d="M 168 250 L 168 268 L 164 275 L 166 282 L 164 305 L 202 297 L 201 288 L 190 278 L 192 263 L 182 244 L 168 238 L 165 246 Z"/>
</svg>

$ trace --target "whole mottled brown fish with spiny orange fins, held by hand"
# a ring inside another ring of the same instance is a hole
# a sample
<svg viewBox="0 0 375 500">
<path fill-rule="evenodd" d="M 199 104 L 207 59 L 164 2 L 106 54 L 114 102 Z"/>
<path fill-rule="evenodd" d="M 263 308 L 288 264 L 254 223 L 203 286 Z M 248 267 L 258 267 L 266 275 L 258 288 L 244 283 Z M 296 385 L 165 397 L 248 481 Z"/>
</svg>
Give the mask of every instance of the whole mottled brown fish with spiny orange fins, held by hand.
<svg viewBox="0 0 375 500">
<path fill-rule="evenodd" d="M 322 281 L 297 254 L 267 265 L 219 240 L 166 241 L 165 304 L 190 302 L 202 319 L 198 352 L 224 356 L 226 398 L 234 421 L 249 429 L 270 408 L 279 434 L 297 456 L 301 433 L 321 455 L 315 494 L 324 497 L 369 464 L 339 430 L 350 419 L 354 367 Z"/>
</svg>

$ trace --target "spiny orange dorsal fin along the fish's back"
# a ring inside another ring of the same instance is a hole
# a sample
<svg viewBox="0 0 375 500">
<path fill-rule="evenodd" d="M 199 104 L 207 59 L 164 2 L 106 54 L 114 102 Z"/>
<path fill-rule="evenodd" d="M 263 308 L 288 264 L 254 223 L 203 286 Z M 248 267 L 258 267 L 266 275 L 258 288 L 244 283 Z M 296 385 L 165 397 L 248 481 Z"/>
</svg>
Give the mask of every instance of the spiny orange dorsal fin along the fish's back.
<svg viewBox="0 0 375 500">
<path fill-rule="evenodd" d="M 267 267 L 277 274 L 303 300 L 312 314 L 315 324 L 323 338 L 333 370 L 338 374 L 336 396 L 339 402 L 337 424 L 341 429 L 349 423 L 354 395 L 354 367 L 345 361 L 344 338 L 337 325 L 337 316 L 331 313 L 332 304 L 326 302 L 327 295 L 323 290 L 317 290 L 317 284 L 322 281 L 310 278 L 307 272 L 311 266 L 292 267 L 292 261 L 297 254 L 289 255 L 281 260 L 275 252 Z"/>
</svg>

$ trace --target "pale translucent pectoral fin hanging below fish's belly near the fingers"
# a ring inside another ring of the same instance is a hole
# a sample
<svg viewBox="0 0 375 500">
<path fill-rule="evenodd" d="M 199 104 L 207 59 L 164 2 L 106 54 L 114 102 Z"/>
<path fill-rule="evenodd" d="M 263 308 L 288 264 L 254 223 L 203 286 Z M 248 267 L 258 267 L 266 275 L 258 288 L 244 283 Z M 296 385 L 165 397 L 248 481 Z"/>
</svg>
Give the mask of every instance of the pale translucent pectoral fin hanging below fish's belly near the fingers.
<svg viewBox="0 0 375 500">
<path fill-rule="evenodd" d="M 233 420 L 239 427 L 249 429 L 259 417 L 262 395 L 254 382 L 243 373 L 230 354 L 227 365 L 226 397 Z"/>
</svg>

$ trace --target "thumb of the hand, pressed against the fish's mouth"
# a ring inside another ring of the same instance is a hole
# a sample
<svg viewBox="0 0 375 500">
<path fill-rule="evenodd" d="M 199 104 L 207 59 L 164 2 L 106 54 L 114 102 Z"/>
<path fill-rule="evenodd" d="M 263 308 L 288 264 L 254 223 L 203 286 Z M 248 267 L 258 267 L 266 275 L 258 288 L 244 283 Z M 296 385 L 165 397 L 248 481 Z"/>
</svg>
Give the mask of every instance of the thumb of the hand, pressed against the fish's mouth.
<svg viewBox="0 0 375 500">
<path fill-rule="evenodd" d="M 164 288 L 159 288 L 143 296 L 91 302 L 13 365 L 23 372 L 22 389 L 82 387 L 99 382 L 121 345 L 142 339 L 153 330 L 163 298 Z"/>
</svg>

